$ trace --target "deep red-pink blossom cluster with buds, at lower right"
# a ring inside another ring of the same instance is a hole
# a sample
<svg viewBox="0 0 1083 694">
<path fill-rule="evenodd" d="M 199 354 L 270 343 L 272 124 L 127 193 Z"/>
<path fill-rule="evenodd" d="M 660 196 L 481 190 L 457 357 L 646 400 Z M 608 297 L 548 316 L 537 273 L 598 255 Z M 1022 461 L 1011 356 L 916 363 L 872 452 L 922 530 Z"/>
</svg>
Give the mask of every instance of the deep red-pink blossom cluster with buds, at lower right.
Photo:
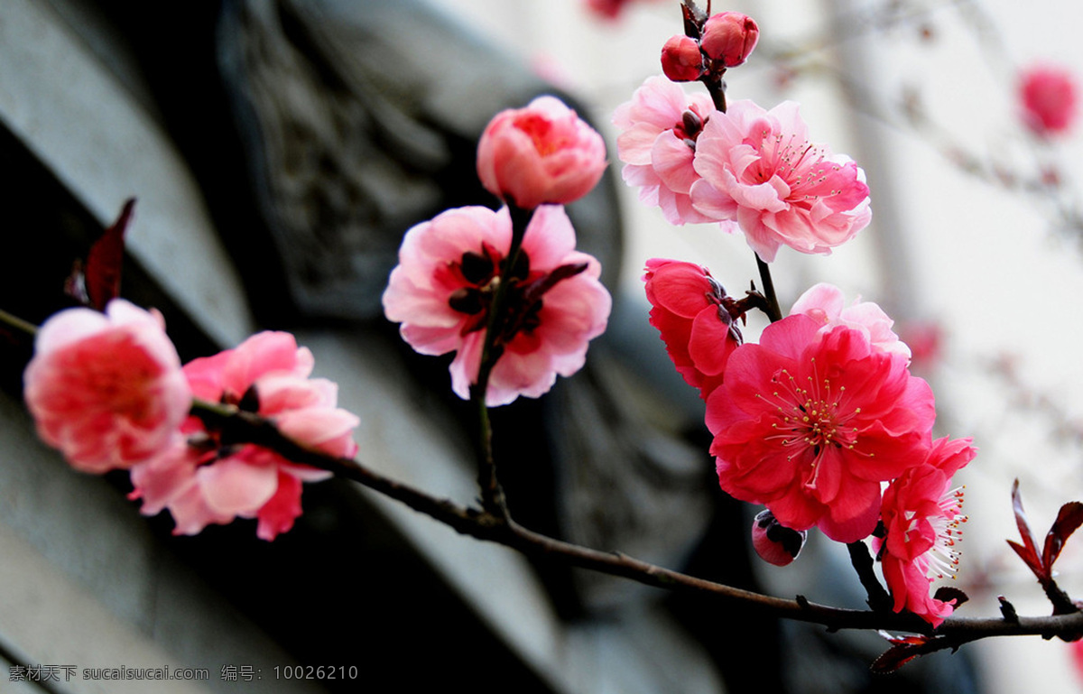
<svg viewBox="0 0 1083 694">
<path fill-rule="evenodd" d="M 953 604 L 929 586 L 953 571 L 964 520 L 950 481 L 975 449 L 932 441 L 932 392 L 910 374 L 891 319 L 821 284 L 758 344 L 743 343 L 738 303 L 705 269 L 655 259 L 644 280 L 652 325 L 706 403 L 721 488 L 769 511 L 753 532 L 760 555 L 788 563 L 811 527 L 854 542 L 883 525 L 896 610 L 939 624 Z"/>
</svg>

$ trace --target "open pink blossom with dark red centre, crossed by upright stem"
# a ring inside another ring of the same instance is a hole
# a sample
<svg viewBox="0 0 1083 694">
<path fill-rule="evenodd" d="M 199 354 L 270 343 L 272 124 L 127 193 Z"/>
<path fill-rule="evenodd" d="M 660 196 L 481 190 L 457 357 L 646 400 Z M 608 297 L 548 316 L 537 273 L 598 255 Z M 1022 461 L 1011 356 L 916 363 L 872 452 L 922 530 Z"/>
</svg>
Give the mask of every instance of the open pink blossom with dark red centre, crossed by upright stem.
<svg viewBox="0 0 1083 694">
<path fill-rule="evenodd" d="M 410 346 L 421 354 L 457 352 L 452 387 L 462 398 L 478 380 L 496 278 L 510 246 L 507 208 L 447 210 L 406 233 L 383 293 L 384 315 L 402 324 Z M 575 250 L 564 209 L 537 208 L 497 320 L 501 356 L 490 377 L 487 405 L 538 397 L 558 374 L 583 367 L 588 341 L 609 320 L 611 299 L 600 274 L 593 257 Z"/>
</svg>

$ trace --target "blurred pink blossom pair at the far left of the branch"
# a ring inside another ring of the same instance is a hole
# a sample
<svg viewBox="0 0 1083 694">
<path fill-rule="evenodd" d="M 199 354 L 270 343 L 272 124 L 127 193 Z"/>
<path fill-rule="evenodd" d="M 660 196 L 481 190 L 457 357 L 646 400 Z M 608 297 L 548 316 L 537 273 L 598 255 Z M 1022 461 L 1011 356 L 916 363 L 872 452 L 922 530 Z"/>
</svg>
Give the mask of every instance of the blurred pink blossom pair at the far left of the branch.
<svg viewBox="0 0 1083 694">
<path fill-rule="evenodd" d="M 24 375 L 41 438 L 78 470 L 129 470 L 143 513 L 168 509 L 174 533 L 259 520 L 271 540 L 301 514 L 301 482 L 330 473 L 208 429 L 195 400 L 258 414 L 292 441 L 335 457 L 357 449 L 357 418 L 336 407 L 337 387 L 310 379 L 313 358 L 286 332 L 181 366 L 161 316 L 121 299 L 105 313 L 70 309 L 41 327 Z"/>
</svg>

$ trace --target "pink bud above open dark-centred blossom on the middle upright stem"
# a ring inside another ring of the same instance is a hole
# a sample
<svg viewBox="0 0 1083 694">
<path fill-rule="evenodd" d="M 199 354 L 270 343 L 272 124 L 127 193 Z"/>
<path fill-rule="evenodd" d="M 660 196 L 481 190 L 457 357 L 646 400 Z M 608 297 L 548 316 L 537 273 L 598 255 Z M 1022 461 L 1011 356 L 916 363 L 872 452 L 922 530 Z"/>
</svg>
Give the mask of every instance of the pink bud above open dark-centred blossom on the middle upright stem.
<svg viewBox="0 0 1083 694">
<path fill-rule="evenodd" d="M 497 114 L 478 144 L 478 176 L 506 206 L 447 210 L 406 233 L 384 315 L 421 354 L 455 352 L 460 397 L 483 368 L 492 369 L 485 404 L 495 406 L 538 397 L 583 367 L 611 299 L 601 265 L 575 250 L 562 206 L 589 193 L 604 169 L 601 135 L 540 96 Z"/>
</svg>

